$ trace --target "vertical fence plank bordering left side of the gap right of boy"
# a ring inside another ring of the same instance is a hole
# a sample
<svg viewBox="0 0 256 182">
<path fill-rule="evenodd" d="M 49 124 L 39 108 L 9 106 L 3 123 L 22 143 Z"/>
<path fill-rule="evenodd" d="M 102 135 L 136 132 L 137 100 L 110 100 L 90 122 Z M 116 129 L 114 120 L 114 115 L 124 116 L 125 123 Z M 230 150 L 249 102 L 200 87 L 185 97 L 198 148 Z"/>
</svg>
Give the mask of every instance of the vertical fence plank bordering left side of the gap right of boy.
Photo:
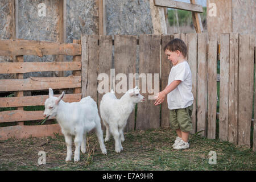
<svg viewBox="0 0 256 182">
<path fill-rule="evenodd" d="M 217 112 L 217 36 L 210 37 L 208 46 L 208 125 L 207 137 L 216 137 Z"/>
</svg>

